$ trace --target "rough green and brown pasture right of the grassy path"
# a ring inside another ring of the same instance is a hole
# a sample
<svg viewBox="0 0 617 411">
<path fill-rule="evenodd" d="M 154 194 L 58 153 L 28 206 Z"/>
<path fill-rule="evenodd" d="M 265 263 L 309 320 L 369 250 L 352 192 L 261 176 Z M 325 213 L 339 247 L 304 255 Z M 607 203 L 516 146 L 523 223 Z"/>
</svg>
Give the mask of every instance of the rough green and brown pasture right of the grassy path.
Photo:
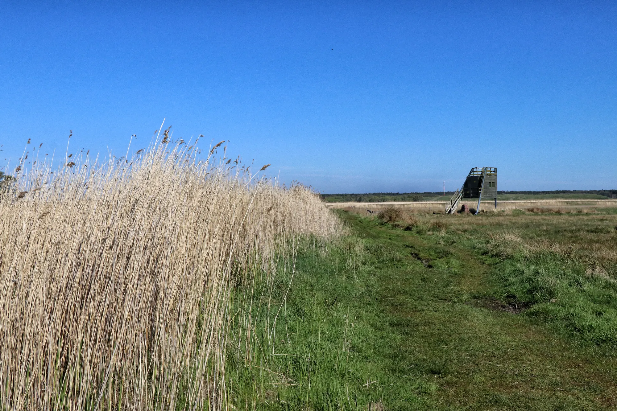
<svg viewBox="0 0 617 411">
<path fill-rule="evenodd" d="M 581 344 L 617 347 L 617 219 L 597 214 L 452 219 L 460 243 L 500 257 L 495 296 Z M 507 235 L 503 235 L 507 230 Z M 501 233 L 501 234 L 500 234 Z"/>
</svg>

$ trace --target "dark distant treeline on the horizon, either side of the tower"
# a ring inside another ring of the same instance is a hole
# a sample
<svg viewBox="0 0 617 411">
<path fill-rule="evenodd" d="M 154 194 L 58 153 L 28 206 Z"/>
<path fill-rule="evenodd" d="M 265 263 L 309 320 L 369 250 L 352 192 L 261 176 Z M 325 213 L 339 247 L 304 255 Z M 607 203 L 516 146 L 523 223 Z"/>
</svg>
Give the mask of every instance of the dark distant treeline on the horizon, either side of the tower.
<svg viewBox="0 0 617 411">
<path fill-rule="evenodd" d="M 453 191 L 446 191 L 452 196 Z M 617 198 L 615 190 L 553 190 L 553 191 L 497 191 L 497 194 L 597 194 Z M 385 201 L 426 201 L 444 195 L 443 191 L 424 191 L 423 193 L 365 193 L 365 194 L 321 194 L 328 202 L 385 202 Z"/>
</svg>

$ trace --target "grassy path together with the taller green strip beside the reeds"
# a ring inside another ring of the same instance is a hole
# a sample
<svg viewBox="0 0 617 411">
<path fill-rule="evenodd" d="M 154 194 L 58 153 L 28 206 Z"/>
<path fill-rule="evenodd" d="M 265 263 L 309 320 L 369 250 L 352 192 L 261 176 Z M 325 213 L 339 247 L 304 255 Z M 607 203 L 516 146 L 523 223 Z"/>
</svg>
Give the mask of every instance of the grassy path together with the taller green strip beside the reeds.
<svg viewBox="0 0 617 411">
<path fill-rule="evenodd" d="M 365 259 L 350 268 L 345 247 L 327 258 L 300 252 L 284 305 L 287 336 L 270 345 L 276 354 L 262 367 L 297 385 L 262 393 L 269 399 L 257 408 L 615 408 L 615 356 L 579 346 L 516 307 L 503 309 L 491 297 L 498 260 L 464 244 L 437 244 L 437 236 L 342 217 Z M 313 365 L 300 360 L 307 355 Z"/>
</svg>

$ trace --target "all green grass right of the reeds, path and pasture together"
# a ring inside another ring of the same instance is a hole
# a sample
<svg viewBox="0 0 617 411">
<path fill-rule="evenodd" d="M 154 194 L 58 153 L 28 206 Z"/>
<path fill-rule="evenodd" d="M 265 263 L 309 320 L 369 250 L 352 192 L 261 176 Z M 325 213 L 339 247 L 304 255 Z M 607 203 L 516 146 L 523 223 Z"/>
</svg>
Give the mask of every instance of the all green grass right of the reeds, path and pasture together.
<svg viewBox="0 0 617 411">
<path fill-rule="evenodd" d="M 431 215 L 404 231 L 340 213 L 349 236 L 336 244 L 305 240 L 295 261 L 281 261 L 274 280 L 258 279 L 254 289 L 236 290 L 234 310 L 243 314 L 234 318 L 250 311 L 255 330 L 251 360 L 244 341 L 230 342 L 234 407 L 617 405 L 610 281 L 588 275 L 581 261 L 563 254 L 544 251 L 529 258 L 517 244 L 487 237 L 504 223 L 516 227 L 511 215 L 501 221 L 499 215 Z M 550 233 L 536 216 L 523 217 L 518 222 L 536 230 L 536 239 Z M 608 218 L 569 217 L 592 219 L 584 223 L 591 228 Z M 435 218 L 450 228 L 431 231 Z M 569 239 L 566 233 L 563 241 Z M 518 313 L 516 304 L 531 308 Z M 234 322 L 234 336 L 242 335 L 240 323 Z M 576 324 L 585 326 L 572 332 Z"/>
</svg>

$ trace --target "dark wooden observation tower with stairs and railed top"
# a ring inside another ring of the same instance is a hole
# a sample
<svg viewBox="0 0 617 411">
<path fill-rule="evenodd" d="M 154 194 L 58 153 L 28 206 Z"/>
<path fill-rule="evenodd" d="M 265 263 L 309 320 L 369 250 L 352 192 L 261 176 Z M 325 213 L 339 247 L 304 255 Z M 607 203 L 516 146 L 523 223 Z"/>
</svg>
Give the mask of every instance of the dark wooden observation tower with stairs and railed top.
<svg viewBox="0 0 617 411">
<path fill-rule="evenodd" d="M 460 190 L 452 196 L 445 206 L 445 214 L 454 214 L 458 210 L 458 203 L 463 198 L 477 198 L 478 207 L 476 213 L 480 212 L 480 201 L 483 198 L 495 199 L 495 209 L 497 208 L 497 167 L 474 167 L 465 179 L 465 183 Z"/>
</svg>

